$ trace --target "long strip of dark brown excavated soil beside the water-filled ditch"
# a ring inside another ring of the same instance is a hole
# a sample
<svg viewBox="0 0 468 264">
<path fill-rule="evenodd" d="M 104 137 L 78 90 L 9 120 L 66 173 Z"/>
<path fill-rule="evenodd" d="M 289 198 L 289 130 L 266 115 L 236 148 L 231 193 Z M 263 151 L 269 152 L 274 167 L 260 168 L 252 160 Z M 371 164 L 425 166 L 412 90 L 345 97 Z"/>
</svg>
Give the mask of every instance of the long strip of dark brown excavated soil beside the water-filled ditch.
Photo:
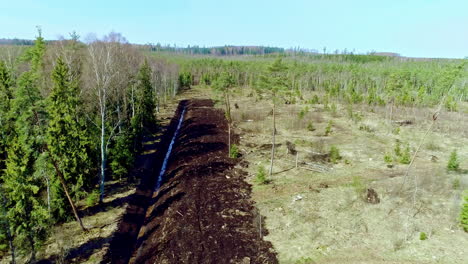
<svg viewBox="0 0 468 264">
<path fill-rule="evenodd" d="M 159 157 L 151 177 L 142 180 L 139 202 L 129 207 L 120 223 L 107 260 L 278 263 L 271 243 L 261 237 L 266 230 L 250 200 L 246 173 L 235 167 L 238 159 L 228 157 L 223 111 L 213 108 L 211 100 L 182 101 L 173 127 L 183 108 L 184 120 L 163 184 L 150 191 L 158 176 Z"/>
</svg>

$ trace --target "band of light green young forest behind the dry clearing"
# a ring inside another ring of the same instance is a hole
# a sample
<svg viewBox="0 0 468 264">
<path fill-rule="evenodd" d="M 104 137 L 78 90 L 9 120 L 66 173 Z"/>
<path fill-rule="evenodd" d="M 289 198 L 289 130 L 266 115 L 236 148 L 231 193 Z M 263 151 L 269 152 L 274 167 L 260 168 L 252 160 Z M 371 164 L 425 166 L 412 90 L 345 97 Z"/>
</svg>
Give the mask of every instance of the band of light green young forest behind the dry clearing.
<svg viewBox="0 0 468 264">
<path fill-rule="evenodd" d="M 254 87 L 278 55 L 262 57 L 176 57 L 193 84 L 211 85 L 223 72 L 236 86 Z M 315 91 L 322 102 L 434 106 L 457 111 L 468 101 L 466 60 L 414 60 L 376 55 L 281 55 L 291 91 Z"/>
</svg>

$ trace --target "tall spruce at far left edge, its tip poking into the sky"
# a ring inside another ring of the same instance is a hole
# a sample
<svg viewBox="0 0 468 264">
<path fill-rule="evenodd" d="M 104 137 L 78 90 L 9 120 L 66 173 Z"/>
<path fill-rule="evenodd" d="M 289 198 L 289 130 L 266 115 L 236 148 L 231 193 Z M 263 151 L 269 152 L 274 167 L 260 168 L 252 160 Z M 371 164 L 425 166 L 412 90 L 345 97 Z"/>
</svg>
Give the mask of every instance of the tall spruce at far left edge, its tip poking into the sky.
<svg viewBox="0 0 468 264">
<path fill-rule="evenodd" d="M 45 238 L 49 224 L 47 210 L 39 191 L 42 180 L 34 176 L 35 162 L 44 150 L 46 114 L 40 94 L 44 41 L 40 35 L 27 52 L 31 70 L 18 79 L 10 100 L 10 114 L 14 117 L 8 137 L 6 169 L 3 187 L 11 202 L 7 218 L 21 248 L 28 248 L 34 261 L 36 243 Z"/>
</svg>

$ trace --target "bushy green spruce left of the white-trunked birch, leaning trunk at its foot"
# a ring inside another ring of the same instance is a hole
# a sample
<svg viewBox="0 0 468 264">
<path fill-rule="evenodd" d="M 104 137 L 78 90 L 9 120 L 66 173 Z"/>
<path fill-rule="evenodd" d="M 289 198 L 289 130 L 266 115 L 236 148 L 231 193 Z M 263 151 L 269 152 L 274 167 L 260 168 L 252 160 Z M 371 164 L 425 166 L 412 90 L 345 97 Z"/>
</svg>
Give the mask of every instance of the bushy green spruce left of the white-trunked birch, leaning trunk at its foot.
<svg viewBox="0 0 468 264">
<path fill-rule="evenodd" d="M 88 176 L 91 163 L 88 156 L 90 140 L 78 121 L 78 87 L 71 80 L 69 69 L 62 58 L 57 59 L 52 79 L 54 87 L 47 105 L 47 151 L 69 205 L 84 230 L 72 196 L 79 196 L 84 178 Z M 68 191 L 70 187 L 74 190 L 72 193 Z"/>
</svg>

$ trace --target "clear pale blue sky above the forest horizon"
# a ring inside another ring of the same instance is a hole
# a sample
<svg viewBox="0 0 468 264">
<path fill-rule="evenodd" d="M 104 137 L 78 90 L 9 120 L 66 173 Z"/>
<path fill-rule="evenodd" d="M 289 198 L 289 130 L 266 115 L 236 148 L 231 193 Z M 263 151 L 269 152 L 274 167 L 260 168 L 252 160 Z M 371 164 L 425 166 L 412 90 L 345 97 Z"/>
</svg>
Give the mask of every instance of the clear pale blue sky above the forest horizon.
<svg viewBox="0 0 468 264">
<path fill-rule="evenodd" d="M 0 0 L 0 38 L 119 32 L 131 43 L 468 56 L 468 0 Z"/>
</svg>

